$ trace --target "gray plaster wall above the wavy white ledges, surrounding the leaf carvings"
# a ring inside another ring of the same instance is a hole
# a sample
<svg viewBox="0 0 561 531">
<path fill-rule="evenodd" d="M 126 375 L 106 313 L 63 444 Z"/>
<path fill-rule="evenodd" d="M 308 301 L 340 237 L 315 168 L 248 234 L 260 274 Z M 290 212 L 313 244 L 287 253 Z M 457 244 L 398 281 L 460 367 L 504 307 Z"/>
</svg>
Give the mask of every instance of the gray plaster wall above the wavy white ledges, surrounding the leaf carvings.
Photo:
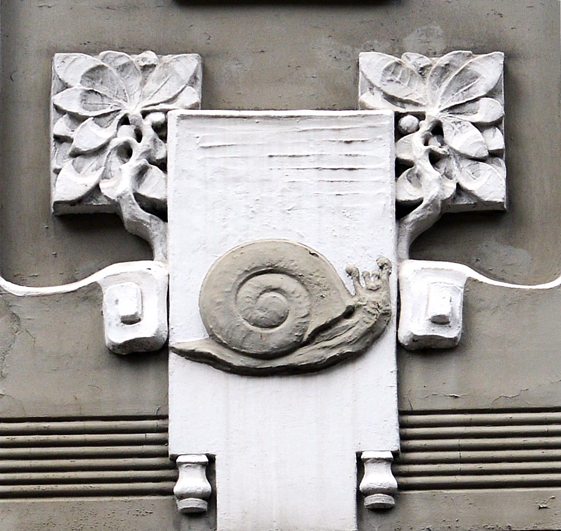
<svg viewBox="0 0 561 531">
<path fill-rule="evenodd" d="M 197 52 L 205 109 L 353 109 L 358 53 L 505 55 L 509 212 L 445 216 L 413 258 L 534 283 L 559 267 L 559 2 L 350 4 L 181 0 L 2 2 L 2 272 L 29 285 L 147 258 L 116 216 L 49 212 L 50 62 L 56 52 Z"/>
</svg>

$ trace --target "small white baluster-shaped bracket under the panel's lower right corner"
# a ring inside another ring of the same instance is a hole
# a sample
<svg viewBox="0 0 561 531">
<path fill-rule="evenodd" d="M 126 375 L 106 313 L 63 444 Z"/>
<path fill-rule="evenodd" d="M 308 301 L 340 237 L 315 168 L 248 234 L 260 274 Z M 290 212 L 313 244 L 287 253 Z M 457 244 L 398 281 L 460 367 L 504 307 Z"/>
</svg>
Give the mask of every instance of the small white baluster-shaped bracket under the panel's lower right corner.
<svg viewBox="0 0 561 531">
<path fill-rule="evenodd" d="M 390 451 L 363 451 L 364 476 L 360 492 L 366 509 L 391 509 L 396 501 L 397 481 L 392 474 L 393 455 Z"/>
</svg>

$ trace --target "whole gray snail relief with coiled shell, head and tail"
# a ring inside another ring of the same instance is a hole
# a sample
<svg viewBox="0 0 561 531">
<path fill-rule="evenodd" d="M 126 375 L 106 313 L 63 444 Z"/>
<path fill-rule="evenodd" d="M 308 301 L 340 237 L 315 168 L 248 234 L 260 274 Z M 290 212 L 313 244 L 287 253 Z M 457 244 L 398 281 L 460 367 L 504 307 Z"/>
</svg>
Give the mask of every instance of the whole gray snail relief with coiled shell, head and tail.
<svg viewBox="0 0 561 531">
<path fill-rule="evenodd" d="M 378 271 L 354 266 L 352 295 L 333 266 L 306 245 L 259 240 L 240 245 L 209 269 L 199 296 L 206 339 L 172 346 L 191 360 L 237 374 L 323 369 L 373 344 L 392 313 L 387 258 Z"/>
</svg>

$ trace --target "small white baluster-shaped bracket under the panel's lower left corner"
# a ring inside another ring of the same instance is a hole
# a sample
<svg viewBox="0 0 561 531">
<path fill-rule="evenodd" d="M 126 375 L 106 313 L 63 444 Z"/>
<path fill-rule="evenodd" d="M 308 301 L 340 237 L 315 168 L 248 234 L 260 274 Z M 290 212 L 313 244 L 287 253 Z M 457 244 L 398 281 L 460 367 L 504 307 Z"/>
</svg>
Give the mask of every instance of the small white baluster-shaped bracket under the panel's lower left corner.
<svg viewBox="0 0 561 531">
<path fill-rule="evenodd" d="M 206 479 L 208 462 L 206 455 L 180 455 L 177 458 L 179 478 L 173 487 L 173 495 L 181 513 L 205 513 L 208 509 L 206 499 L 212 492 Z"/>
</svg>

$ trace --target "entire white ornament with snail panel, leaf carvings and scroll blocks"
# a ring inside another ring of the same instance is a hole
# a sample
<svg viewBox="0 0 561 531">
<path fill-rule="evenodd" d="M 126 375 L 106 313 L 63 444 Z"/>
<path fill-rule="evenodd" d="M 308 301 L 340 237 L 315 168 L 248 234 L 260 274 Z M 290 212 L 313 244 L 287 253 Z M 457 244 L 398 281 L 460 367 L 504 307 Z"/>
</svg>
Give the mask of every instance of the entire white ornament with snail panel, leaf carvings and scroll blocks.
<svg viewBox="0 0 561 531">
<path fill-rule="evenodd" d="M 473 272 L 408 249 L 443 212 L 505 207 L 503 59 L 361 54 L 365 112 L 173 113 L 169 454 L 182 513 L 206 511 L 215 491 L 223 531 L 353 530 L 357 455 L 365 507 L 394 506 L 392 263 L 399 341 L 457 346 Z M 53 211 L 116 212 L 165 262 L 167 113 L 196 108 L 200 83 L 196 54 L 57 54 Z M 167 336 L 167 264 L 144 284 L 150 265 L 129 269 L 98 281 L 116 353 Z"/>
</svg>

